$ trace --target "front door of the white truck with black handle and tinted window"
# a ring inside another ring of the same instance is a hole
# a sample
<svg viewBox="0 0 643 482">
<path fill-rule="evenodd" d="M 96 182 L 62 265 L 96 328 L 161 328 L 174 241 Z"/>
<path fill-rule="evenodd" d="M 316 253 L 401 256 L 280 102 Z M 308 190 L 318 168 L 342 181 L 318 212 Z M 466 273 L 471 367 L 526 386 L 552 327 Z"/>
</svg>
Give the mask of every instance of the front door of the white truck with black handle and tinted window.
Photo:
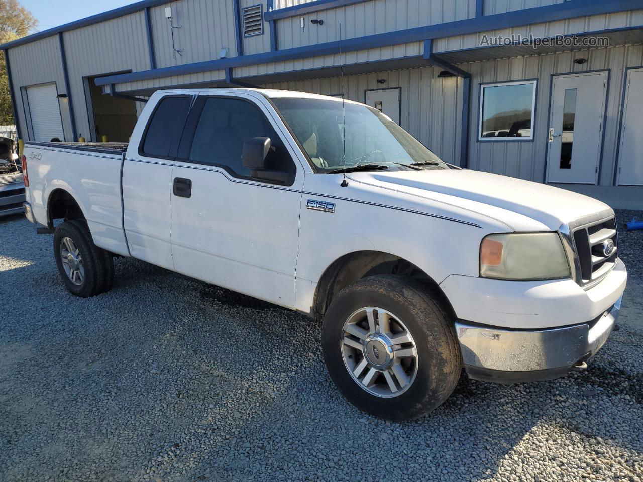
<svg viewBox="0 0 643 482">
<path fill-rule="evenodd" d="M 248 94 L 197 98 L 172 173 L 172 256 L 176 271 L 292 307 L 303 171 L 272 116 Z M 242 165 L 257 136 L 271 139 L 269 164 L 289 181 L 253 179 Z"/>
</svg>

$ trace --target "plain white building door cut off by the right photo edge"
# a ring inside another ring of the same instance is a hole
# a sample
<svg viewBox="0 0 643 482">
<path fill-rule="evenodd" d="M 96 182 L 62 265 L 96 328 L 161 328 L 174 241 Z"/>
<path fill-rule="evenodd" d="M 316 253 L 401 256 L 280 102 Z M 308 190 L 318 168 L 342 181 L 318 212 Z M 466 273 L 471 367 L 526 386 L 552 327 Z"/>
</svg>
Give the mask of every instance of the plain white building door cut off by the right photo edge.
<svg viewBox="0 0 643 482">
<path fill-rule="evenodd" d="M 628 71 L 623 125 L 620 130 L 619 174 L 621 186 L 643 186 L 643 69 Z"/>
</svg>

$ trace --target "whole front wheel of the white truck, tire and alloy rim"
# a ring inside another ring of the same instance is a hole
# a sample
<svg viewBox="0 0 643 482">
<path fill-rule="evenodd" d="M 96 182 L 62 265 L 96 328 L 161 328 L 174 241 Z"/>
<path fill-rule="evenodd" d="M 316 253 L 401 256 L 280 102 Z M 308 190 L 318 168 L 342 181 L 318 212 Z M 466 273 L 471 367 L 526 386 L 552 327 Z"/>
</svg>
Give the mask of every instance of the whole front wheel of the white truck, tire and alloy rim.
<svg viewBox="0 0 643 482">
<path fill-rule="evenodd" d="M 369 276 L 333 299 L 321 343 L 343 395 L 390 420 L 430 412 L 460 377 L 453 323 L 426 287 L 400 276 Z"/>
</svg>

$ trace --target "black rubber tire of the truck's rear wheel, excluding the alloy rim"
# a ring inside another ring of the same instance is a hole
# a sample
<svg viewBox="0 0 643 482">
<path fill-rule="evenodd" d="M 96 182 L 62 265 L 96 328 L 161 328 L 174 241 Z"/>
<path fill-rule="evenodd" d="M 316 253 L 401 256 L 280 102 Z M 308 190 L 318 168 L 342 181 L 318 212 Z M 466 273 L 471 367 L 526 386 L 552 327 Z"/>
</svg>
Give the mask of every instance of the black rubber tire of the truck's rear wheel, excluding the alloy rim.
<svg viewBox="0 0 643 482">
<path fill-rule="evenodd" d="M 69 278 L 63 266 L 60 247 L 64 238 L 73 241 L 82 258 L 84 279 L 79 284 Z M 71 294 L 88 298 L 111 288 L 114 279 L 114 264 L 111 255 L 94 244 L 85 222 L 70 220 L 60 224 L 53 235 L 53 254 L 62 281 Z"/>
</svg>

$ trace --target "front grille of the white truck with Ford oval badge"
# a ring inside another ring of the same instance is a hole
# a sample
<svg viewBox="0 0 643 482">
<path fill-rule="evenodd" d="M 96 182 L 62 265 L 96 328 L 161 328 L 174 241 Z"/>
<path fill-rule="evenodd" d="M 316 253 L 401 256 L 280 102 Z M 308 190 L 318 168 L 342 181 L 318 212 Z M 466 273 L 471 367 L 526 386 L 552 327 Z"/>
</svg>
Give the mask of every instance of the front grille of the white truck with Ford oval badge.
<svg viewBox="0 0 643 482">
<path fill-rule="evenodd" d="M 575 228 L 572 232 L 580 285 L 601 280 L 616 265 L 618 235 L 614 217 Z"/>
</svg>

